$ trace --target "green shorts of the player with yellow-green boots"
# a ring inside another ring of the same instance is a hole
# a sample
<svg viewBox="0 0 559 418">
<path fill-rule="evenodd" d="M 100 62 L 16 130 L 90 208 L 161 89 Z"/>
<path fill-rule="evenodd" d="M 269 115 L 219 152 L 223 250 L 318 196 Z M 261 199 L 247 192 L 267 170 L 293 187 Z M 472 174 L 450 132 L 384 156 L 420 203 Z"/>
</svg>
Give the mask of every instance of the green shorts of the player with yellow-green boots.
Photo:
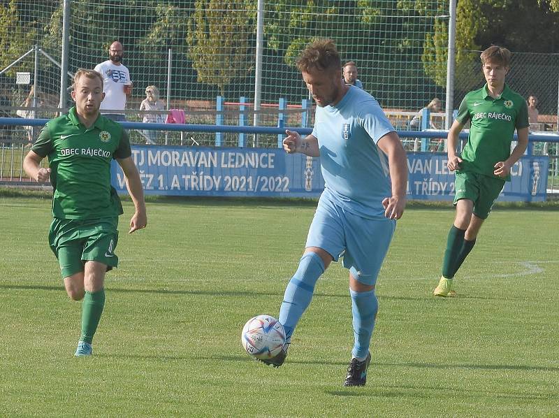
<svg viewBox="0 0 559 418">
<path fill-rule="evenodd" d="M 454 205 L 460 199 L 474 202 L 474 215 L 487 219 L 504 187 L 504 180 L 470 171 L 456 171 Z"/>
</svg>

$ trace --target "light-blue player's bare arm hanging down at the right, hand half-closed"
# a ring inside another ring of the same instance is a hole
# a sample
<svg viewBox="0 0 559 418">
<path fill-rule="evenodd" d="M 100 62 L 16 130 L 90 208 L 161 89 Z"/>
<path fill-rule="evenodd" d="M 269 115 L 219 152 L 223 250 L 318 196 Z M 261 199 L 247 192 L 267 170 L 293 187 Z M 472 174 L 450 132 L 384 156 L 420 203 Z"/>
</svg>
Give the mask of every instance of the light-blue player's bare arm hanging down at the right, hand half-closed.
<svg viewBox="0 0 559 418">
<path fill-rule="evenodd" d="M 400 219 L 406 206 L 407 159 L 402 142 L 395 132 L 389 132 L 379 139 L 377 146 L 389 158 L 392 196 L 382 201 L 384 216 Z"/>
</svg>

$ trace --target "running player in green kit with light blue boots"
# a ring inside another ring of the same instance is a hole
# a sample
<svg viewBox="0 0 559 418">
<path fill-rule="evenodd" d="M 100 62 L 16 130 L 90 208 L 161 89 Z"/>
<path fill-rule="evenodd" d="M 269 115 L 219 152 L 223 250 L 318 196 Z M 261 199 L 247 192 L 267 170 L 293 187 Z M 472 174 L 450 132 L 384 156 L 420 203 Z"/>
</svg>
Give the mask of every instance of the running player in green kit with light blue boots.
<svg viewBox="0 0 559 418">
<path fill-rule="evenodd" d="M 23 168 L 38 182 L 50 179 L 52 217 L 49 243 L 59 260 L 66 293 L 82 302 L 82 332 L 75 356 L 92 354 L 92 340 L 105 305 L 105 273 L 116 267 L 118 216 L 122 205 L 110 185 L 117 159 L 136 211 L 130 231 L 145 228 L 142 182 L 131 157 L 126 131 L 99 113 L 103 78 L 93 70 L 75 73 L 67 115 L 47 122 L 26 155 Z M 48 157 L 50 168 L 41 168 Z"/>
</svg>

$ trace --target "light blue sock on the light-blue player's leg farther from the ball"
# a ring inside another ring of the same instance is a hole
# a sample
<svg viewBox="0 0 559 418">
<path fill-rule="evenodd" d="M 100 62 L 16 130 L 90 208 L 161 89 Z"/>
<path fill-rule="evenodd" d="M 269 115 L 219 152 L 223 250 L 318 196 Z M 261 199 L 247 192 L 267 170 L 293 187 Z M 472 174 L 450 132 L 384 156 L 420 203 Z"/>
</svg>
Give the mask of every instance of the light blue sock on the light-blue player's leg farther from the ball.
<svg viewBox="0 0 559 418">
<path fill-rule="evenodd" d="M 375 289 L 360 292 L 349 289 L 349 294 L 351 295 L 351 314 L 353 315 L 355 336 L 354 349 L 351 354 L 356 359 L 364 359 L 369 352 L 379 301 Z"/>
</svg>

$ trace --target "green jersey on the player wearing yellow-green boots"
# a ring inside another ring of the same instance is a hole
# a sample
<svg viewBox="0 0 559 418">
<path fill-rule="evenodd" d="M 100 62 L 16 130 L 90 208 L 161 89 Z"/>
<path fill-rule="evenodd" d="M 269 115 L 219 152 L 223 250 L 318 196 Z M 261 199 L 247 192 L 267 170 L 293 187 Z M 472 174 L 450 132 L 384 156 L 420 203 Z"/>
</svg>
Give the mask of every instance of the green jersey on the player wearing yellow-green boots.
<svg viewBox="0 0 559 418">
<path fill-rule="evenodd" d="M 468 120 L 471 124 L 461 155 L 460 171 L 491 177 L 495 177 L 495 163 L 504 161 L 511 154 L 514 129 L 529 126 L 526 101 L 507 85 L 496 99 L 489 95 L 487 85 L 466 94 L 456 119 L 461 124 Z"/>
</svg>

